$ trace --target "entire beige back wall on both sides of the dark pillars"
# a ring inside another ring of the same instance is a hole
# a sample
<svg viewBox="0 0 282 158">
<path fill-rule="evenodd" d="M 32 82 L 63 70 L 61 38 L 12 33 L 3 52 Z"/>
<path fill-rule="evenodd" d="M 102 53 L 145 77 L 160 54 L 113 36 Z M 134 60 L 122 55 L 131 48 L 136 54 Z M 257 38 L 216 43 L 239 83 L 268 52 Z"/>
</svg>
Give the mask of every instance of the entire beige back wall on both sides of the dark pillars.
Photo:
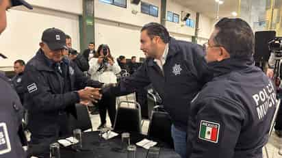
<svg viewBox="0 0 282 158">
<path fill-rule="evenodd" d="M 0 53 L 9 57 L 1 60 L 0 66 L 12 66 L 14 60 L 29 60 L 38 49 L 38 42 L 42 31 L 47 27 L 58 27 L 70 34 L 73 38 L 73 47 L 79 48 L 79 18 L 82 14 L 82 0 L 27 0 L 35 6 L 34 10 L 27 11 L 16 8 L 8 12 L 8 28 L 0 36 Z M 140 29 L 150 22 L 160 23 L 160 0 L 144 0 L 159 8 L 159 16 L 142 14 L 140 4 L 134 5 L 127 0 L 127 8 L 102 3 L 94 0 L 95 14 L 95 42 L 109 44 L 114 57 L 136 55 L 144 57 L 140 51 Z M 189 12 L 190 18 L 196 20 L 196 12 L 192 8 L 185 8 L 174 0 L 167 1 L 167 10 L 179 14 Z M 132 11 L 137 11 L 133 14 Z M 166 22 L 170 35 L 179 40 L 191 41 L 194 29 L 186 27 L 184 22 Z M 199 42 L 206 42 L 209 37 L 212 22 L 207 16 L 200 16 Z M 85 49 L 85 48 L 81 48 Z M 97 49 L 97 48 L 96 48 Z"/>
</svg>

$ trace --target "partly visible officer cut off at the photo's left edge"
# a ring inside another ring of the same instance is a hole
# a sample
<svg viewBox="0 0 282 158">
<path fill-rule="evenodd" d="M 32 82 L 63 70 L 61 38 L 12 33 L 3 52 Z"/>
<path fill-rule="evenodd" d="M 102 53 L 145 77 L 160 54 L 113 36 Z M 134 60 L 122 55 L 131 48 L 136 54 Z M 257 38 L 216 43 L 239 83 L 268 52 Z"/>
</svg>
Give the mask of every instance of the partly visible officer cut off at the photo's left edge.
<svg viewBox="0 0 282 158">
<path fill-rule="evenodd" d="M 32 9 L 31 5 L 23 0 L 0 1 L 0 34 L 7 25 L 6 10 L 17 5 L 25 5 L 25 7 Z M 1 73 L 0 102 L 0 157 L 25 157 L 25 152 L 18 136 L 18 129 L 23 118 L 23 107 L 8 78 Z"/>
</svg>

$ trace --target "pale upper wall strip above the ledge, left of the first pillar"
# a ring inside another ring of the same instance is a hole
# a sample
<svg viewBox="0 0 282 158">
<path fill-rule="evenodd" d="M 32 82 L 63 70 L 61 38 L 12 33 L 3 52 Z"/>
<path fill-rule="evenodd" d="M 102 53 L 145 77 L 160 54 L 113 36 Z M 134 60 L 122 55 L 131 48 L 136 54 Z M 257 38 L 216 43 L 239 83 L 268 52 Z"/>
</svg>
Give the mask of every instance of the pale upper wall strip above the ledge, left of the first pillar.
<svg viewBox="0 0 282 158">
<path fill-rule="evenodd" d="M 48 8 L 51 10 L 59 10 L 63 12 L 71 12 L 73 14 L 82 14 L 82 0 L 26 0 L 31 5 Z"/>
</svg>

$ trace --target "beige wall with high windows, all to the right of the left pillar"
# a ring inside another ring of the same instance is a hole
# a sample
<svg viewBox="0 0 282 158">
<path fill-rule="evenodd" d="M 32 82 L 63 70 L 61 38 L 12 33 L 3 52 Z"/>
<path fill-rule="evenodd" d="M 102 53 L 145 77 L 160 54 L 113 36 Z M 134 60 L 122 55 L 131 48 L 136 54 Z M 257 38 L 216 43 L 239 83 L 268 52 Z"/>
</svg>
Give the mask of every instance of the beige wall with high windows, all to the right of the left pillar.
<svg viewBox="0 0 282 158">
<path fill-rule="evenodd" d="M 159 16 L 149 16 L 142 14 L 140 5 L 131 4 L 127 0 L 127 8 L 121 8 L 116 5 L 103 3 L 99 0 L 94 0 L 95 5 L 95 43 L 96 47 L 99 44 L 109 44 L 112 50 L 112 55 L 118 57 L 125 55 L 130 58 L 132 55 L 144 57 L 140 51 L 140 29 L 142 25 L 150 22 L 160 23 L 160 1 L 159 0 L 144 0 L 144 2 L 156 5 L 159 8 Z M 132 10 L 136 10 L 137 14 L 132 14 Z M 196 21 L 196 12 L 185 8 L 174 0 L 167 1 L 167 10 L 179 14 L 179 21 L 181 18 L 181 11 L 189 12 L 190 18 Z M 201 28 L 204 29 L 200 33 L 200 42 L 205 42 L 209 37 L 211 25 L 209 18 L 200 16 Z M 195 28 L 185 26 L 185 22 L 172 23 L 166 21 L 166 28 L 170 31 L 170 36 L 178 40 L 192 41 Z M 97 49 L 97 48 L 96 48 Z"/>
</svg>

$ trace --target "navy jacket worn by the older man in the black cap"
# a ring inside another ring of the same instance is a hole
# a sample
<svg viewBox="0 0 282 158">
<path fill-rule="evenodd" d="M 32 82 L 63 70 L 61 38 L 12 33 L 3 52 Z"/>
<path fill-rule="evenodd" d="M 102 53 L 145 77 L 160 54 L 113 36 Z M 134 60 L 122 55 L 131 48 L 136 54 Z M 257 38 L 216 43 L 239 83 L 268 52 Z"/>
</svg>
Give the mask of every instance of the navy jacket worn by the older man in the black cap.
<svg viewBox="0 0 282 158">
<path fill-rule="evenodd" d="M 79 103 L 79 96 L 75 90 L 86 86 L 100 88 L 102 85 L 98 81 L 84 77 L 75 63 L 66 59 L 63 61 L 66 63 L 66 76 L 69 77 L 71 84 L 71 89 L 67 92 L 62 85 L 64 83 L 62 77 L 49 65 L 41 49 L 25 66 L 23 85 L 27 88 L 27 93 L 24 106 L 28 110 L 29 123 L 33 122 L 34 126 L 42 123 L 54 124 L 59 113 L 64 111 L 77 117 L 75 103 Z M 36 129 L 36 127 L 32 128 Z"/>
</svg>

